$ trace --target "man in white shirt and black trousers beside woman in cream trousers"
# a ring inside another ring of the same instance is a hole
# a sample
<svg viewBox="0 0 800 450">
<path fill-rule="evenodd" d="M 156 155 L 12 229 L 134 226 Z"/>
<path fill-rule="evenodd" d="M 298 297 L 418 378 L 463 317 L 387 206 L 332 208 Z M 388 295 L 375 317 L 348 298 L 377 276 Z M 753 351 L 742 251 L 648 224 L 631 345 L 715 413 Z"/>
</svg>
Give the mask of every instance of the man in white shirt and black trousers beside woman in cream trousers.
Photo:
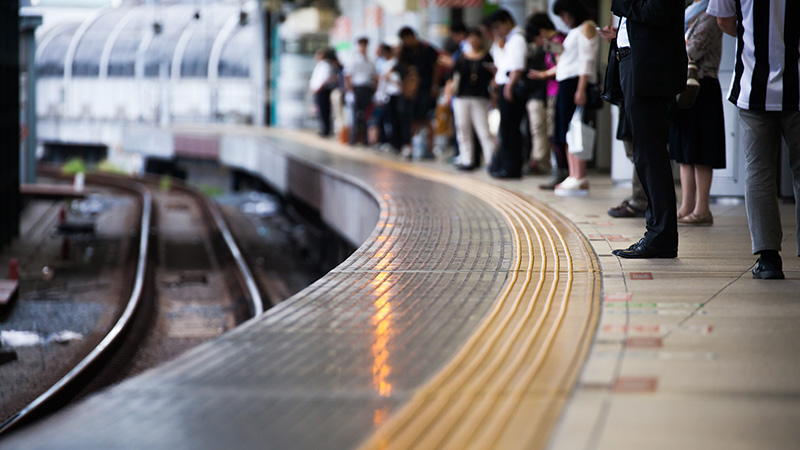
<svg viewBox="0 0 800 450">
<path fill-rule="evenodd" d="M 515 86 L 525 70 L 528 43 L 522 29 L 505 9 L 498 9 L 486 18 L 486 25 L 495 38 L 492 58 L 497 66 L 494 82 L 497 85 L 497 106 L 500 110 L 500 145 L 490 165 L 494 178 L 522 176 L 522 133 L 520 124 L 525 115 L 527 98 L 515 92 Z"/>
</svg>

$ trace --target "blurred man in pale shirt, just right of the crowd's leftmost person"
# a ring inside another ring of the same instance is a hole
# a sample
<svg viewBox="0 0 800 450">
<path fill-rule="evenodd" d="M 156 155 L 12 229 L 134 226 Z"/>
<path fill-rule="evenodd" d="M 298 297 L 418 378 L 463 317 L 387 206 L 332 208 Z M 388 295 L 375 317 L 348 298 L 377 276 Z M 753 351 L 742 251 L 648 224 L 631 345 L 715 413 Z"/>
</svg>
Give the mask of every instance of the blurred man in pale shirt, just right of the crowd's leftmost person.
<svg viewBox="0 0 800 450">
<path fill-rule="evenodd" d="M 372 104 L 372 96 L 375 94 L 375 82 L 378 75 L 375 72 L 375 65 L 367 57 L 369 39 L 360 38 L 358 40 L 358 51 L 353 55 L 350 65 L 345 68 L 345 90 L 353 94 L 353 130 L 350 135 L 350 145 L 363 139 L 364 145 L 367 144 L 367 110 Z"/>
</svg>

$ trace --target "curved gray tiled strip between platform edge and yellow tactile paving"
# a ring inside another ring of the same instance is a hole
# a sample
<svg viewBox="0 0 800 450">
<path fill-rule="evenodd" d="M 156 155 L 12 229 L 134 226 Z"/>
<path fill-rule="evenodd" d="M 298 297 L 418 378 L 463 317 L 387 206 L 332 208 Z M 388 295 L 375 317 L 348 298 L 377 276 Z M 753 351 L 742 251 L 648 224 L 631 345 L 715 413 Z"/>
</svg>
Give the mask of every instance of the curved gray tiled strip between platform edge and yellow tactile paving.
<svg viewBox="0 0 800 450">
<path fill-rule="evenodd" d="M 264 316 L 12 444 L 349 448 L 450 359 L 508 277 L 503 216 L 451 186 L 290 148 L 370 186 L 383 208 L 368 243 Z"/>
</svg>

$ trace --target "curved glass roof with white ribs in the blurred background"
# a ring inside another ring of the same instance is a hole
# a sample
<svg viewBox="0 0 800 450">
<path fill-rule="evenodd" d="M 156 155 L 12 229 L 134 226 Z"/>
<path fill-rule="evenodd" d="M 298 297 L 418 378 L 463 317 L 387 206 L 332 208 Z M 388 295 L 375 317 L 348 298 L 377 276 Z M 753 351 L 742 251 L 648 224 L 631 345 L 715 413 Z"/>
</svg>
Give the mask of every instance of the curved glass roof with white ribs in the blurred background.
<svg viewBox="0 0 800 450">
<path fill-rule="evenodd" d="M 254 45 L 258 42 L 257 24 L 250 20 L 240 25 L 239 11 L 236 3 L 214 3 L 199 9 L 194 4 L 106 8 L 94 19 L 87 19 L 91 23 L 79 37 L 72 61 L 72 75 L 99 76 L 102 72 L 100 59 L 103 50 L 114 38 L 108 60 L 109 77 L 136 76 L 137 57 L 142 58 L 145 77 L 158 77 L 162 66 L 166 70 L 165 75 L 170 77 L 178 43 L 181 36 L 187 33 L 180 75 L 207 77 L 212 47 L 221 36 L 220 33 L 225 31 L 219 74 L 223 77 L 248 77 L 251 62 L 262 56 L 261 50 Z M 196 13 L 199 18 L 195 17 Z M 225 29 L 225 24 L 234 20 L 235 29 Z M 158 24 L 158 33 L 152 35 L 149 43 L 144 42 L 153 33 L 154 24 Z M 64 76 L 67 49 L 76 38 L 79 27 L 78 23 L 56 25 L 39 36 L 39 44 L 43 46 L 37 53 L 36 61 L 40 76 Z M 146 45 L 142 55 L 139 54 L 141 45 Z"/>
</svg>

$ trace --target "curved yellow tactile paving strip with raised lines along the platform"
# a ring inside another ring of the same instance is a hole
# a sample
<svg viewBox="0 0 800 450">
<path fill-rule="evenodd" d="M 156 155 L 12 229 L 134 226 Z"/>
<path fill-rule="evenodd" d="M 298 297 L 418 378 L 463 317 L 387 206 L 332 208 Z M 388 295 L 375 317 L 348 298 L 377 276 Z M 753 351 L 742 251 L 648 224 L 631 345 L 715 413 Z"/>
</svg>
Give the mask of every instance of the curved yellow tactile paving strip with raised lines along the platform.
<svg viewBox="0 0 800 450">
<path fill-rule="evenodd" d="M 311 144 L 316 139 L 270 134 Z M 489 314 L 362 447 L 544 447 L 597 324 L 601 277 L 588 241 L 560 214 L 498 186 L 344 146 L 325 148 L 481 198 L 500 211 L 514 236 L 509 281 Z"/>
</svg>

